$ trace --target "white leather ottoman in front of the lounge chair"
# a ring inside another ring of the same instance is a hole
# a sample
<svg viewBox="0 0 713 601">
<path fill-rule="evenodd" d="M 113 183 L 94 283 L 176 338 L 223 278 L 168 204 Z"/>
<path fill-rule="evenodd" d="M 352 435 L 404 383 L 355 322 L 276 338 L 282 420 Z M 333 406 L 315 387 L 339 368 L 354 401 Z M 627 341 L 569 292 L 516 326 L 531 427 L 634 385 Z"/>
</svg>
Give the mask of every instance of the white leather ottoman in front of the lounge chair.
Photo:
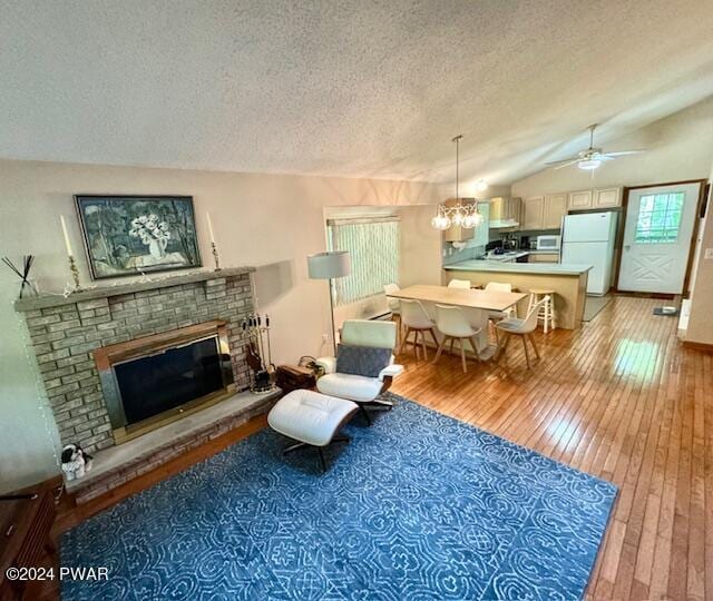
<svg viewBox="0 0 713 601">
<path fill-rule="evenodd" d="M 332 442 L 349 442 L 346 436 L 335 434 L 356 410 L 359 405 L 352 401 L 297 390 L 277 401 L 267 414 L 267 423 L 275 432 L 299 441 L 287 446 L 283 454 L 315 446 L 322 470 L 326 470 L 322 449 Z"/>
</svg>

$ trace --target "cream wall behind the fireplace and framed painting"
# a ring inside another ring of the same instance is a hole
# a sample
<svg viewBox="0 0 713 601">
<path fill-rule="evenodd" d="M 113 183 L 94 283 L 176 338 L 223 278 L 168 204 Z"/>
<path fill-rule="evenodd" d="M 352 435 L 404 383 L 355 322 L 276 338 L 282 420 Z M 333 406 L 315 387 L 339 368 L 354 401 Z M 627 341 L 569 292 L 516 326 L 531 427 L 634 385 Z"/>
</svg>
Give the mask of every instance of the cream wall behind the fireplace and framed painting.
<svg viewBox="0 0 713 601">
<path fill-rule="evenodd" d="M 277 363 L 331 347 L 322 341 L 323 333 L 331 333 L 328 288 L 307 278 L 305 259 L 325 249 L 324 207 L 441 200 L 437 186 L 418 183 L 8 160 L 0 160 L 0 255 L 16 262 L 23 254 L 36 255 L 35 277 L 45 290 L 55 292 L 69 279 L 60 215 L 70 223 L 74 247 L 82 248 L 74 194 L 192 195 L 205 265 L 212 260 L 205 219 L 209 210 L 223 265 L 257 267 L 257 304 L 271 314 Z M 430 208 L 423 211 L 429 220 L 431 214 Z M 419 219 L 413 217 L 414 227 L 421 227 Z M 428 231 L 428 223 L 422 227 Z M 82 283 L 88 284 L 86 259 L 77 258 Z M 418 279 L 421 268 L 436 260 L 437 252 L 430 263 L 414 260 L 409 277 Z M 57 472 L 57 432 L 46 401 L 38 397 L 23 322 L 11 305 L 17 290 L 16 276 L 0 269 L 0 490 Z"/>
</svg>

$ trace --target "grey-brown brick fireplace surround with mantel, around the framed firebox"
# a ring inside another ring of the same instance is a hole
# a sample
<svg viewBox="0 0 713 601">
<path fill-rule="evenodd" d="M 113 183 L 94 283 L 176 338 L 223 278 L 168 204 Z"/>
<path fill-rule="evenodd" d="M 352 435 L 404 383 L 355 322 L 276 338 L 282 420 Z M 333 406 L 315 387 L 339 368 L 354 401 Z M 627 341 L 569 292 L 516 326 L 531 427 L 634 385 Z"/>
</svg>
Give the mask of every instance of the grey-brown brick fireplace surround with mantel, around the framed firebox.
<svg viewBox="0 0 713 601">
<path fill-rule="evenodd" d="M 16 302 L 25 313 L 62 444 L 80 443 L 90 453 L 114 445 L 91 354 L 101 346 L 223 319 L 235 385 L 238 391 L 247 387 L 241 323 L 253 312 L 253 270 L 201 272 Z"/>
</svg>

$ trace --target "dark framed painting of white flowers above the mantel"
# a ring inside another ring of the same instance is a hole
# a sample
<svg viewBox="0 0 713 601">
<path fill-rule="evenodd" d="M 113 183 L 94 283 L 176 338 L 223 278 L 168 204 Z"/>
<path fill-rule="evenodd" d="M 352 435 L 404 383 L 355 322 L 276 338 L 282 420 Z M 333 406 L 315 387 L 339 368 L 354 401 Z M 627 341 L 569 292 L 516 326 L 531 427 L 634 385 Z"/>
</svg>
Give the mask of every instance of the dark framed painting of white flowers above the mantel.
<svg viewBox="0 0 713 601">
<path fill-rule="evenodd" d="M 193 196 L 75 195 L 92 279 L 201 267 Z"/>
</svg>

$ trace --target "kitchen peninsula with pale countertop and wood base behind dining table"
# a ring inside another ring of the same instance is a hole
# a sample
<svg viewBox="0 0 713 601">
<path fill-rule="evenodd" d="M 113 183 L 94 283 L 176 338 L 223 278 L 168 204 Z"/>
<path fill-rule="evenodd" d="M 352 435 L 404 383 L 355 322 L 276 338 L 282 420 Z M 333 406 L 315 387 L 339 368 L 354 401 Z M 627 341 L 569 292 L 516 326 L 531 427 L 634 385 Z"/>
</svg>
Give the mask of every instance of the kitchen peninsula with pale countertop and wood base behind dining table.
<svg viewBox="0 0 713 601">
<path fill-rule="evenodd" d="M 443 284 L 451 279 L 468 279 L 472 286 L 486 286 L 490 282 L 511 284 L 512 292 L 529 293 L 533 288 L 554 290 L 556 326 L 576 329 L 582 326 L 592 267 L 585 264 L 470 259 L 443 266 Z M 527 307 L 528 299 L 518 303 L 519 317 L 527 315 Z"/>
</svg>

